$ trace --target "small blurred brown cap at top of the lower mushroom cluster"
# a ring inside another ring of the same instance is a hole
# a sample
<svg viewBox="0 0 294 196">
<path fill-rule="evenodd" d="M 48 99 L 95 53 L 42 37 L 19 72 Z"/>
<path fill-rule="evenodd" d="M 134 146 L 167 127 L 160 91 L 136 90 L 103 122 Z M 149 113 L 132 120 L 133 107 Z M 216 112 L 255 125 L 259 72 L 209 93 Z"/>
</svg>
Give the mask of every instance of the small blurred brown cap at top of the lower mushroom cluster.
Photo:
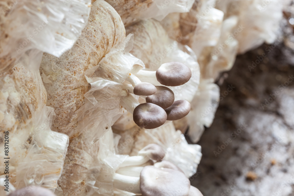
<svg viewBox="0 0 294 196">
<path fill-rule="evenodd" d="M 145 155 L 149 159 L 160 161 L 164 158 L 165 152 L 160 145 L 148 144 L 138 152 L 138 155 Z"/>
</svg>

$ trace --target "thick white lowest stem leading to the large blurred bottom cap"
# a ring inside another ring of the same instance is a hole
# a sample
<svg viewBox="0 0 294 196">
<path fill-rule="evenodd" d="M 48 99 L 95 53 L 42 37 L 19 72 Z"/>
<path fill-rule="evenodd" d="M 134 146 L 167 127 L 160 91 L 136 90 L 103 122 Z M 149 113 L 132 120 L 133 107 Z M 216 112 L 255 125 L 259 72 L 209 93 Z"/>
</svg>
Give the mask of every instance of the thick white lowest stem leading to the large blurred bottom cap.
<svg viewBox="0 0 294 196">
<path fill-rule="evenodd" d="M 113 187 L 127 192 L 141 194 L 140 177 L 131 177 L 114 173 Z"/>
</svg>

